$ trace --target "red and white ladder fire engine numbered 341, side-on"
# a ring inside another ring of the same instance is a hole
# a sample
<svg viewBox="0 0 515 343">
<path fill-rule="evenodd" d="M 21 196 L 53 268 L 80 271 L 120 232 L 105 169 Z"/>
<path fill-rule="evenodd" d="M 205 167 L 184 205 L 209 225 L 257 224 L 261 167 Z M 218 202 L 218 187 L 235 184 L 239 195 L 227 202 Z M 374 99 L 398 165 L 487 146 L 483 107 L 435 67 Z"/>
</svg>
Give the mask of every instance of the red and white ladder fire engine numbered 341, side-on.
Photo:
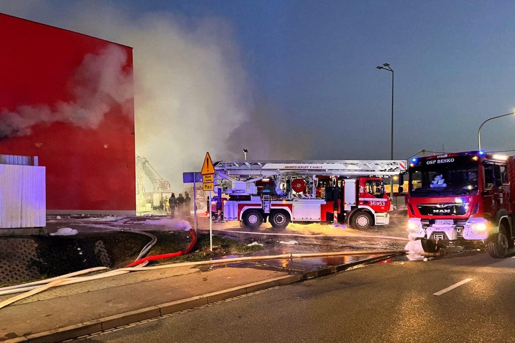
<svg viewBox="0 0 515 343">
<path fill-rule="evenodd" d="M 267 220 L 274 228 L 332 222 L 366 229 L 388 224 L 382 176 L 398 175 L 406 161 L 220 161 L 214 168 L 213 210 L 224 220 L 252 229 Z"/>
</svg>

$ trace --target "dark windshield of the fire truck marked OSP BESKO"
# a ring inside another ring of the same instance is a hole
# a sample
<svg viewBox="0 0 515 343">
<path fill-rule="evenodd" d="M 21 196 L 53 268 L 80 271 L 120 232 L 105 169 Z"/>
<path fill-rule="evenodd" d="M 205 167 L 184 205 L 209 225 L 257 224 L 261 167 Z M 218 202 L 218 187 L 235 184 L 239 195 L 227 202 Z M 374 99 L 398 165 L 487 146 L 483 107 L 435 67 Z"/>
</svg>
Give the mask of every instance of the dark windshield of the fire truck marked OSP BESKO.
<svg viewBox="0 0 515 343">
<path fill-rule="evenodd" d="M 409 169 L 411 197 L 477 194 L 479 163 L 470 156 L 421 161 Z"/>
</svg>

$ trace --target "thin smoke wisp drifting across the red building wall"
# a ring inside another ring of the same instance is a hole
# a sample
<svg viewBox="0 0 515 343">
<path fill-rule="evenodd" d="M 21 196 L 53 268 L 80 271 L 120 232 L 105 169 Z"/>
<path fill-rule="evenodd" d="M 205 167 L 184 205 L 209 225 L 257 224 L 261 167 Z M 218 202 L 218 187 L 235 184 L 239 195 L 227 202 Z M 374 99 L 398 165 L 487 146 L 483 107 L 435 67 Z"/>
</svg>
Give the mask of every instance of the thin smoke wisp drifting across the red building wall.
<svg viewBox="0 0 515 343">
<path fill-rule="evenodd" d="M 84 56 L 68 82 L 72 101 L 20 106 L 14 111 L 2 109 L 0 138 L 30 134 L 33 125 L 42 123 L 65 122 L 97 128 L 112 106 L 127 106 L 132 99 L 132 75 L 123 69 L 126 61 L 125 51 L 114 45 L 98 55 Z"/>
</svg>

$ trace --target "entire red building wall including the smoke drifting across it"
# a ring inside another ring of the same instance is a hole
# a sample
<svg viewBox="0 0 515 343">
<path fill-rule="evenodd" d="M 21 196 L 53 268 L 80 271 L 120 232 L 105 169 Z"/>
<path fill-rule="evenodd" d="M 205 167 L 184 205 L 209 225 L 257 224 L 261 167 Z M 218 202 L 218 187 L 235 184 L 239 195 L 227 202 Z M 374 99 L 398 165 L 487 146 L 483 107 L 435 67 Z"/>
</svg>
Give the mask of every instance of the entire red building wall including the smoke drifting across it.
<svg viewBox="0 0 515 343">
<path fill-rule="evenodd" d="M 132 48 L 0 14 L 0 153 L 38 156 L 49 213 L 134 213 Z"/>
</svg>

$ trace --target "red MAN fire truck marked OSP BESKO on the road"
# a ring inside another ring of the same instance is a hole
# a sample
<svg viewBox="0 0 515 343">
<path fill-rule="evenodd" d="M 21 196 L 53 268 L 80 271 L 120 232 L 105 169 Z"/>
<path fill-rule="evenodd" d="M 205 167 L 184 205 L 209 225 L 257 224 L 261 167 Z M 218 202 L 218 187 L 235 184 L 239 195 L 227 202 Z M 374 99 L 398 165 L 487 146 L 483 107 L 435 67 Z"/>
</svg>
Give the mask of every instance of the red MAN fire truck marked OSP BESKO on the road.
<svg viewBox="0 0 515 343">
<path fill-rule="evenodd" d="M 410 238 L 482 241 L 493 258 L 513 248 L 513 157 L 469 151 L 409 162 Z"/>
</svg>

